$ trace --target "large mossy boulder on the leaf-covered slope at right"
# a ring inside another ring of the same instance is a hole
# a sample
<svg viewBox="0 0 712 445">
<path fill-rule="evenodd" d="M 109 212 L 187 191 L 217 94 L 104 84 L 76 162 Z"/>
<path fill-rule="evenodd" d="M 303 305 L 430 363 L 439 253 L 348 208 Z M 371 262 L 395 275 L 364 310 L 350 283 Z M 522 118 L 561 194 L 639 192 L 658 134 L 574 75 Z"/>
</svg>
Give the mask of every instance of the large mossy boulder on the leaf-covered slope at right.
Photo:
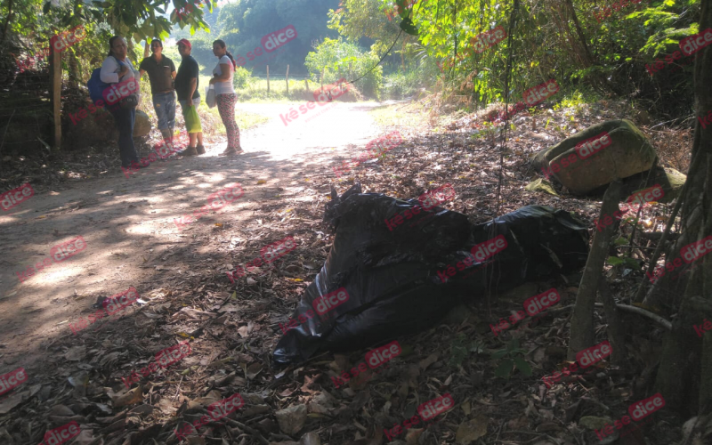
<svg viewBox="0 0 712 445">
<path fill-rule="evenodd" d="M 538 173 L 554 176 L 573 193 L 595 190 L 616 178 L 650 170 L 657 154 L 627 119 L 610 120 L 574 134 L 534 158 Z"/>
</svg>

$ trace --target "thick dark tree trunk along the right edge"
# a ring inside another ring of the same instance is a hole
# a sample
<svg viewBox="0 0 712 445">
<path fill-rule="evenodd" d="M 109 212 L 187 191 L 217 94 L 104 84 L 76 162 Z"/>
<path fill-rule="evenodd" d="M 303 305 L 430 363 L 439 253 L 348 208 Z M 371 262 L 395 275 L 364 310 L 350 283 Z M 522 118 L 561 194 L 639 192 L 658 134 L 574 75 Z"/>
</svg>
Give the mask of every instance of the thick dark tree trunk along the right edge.
<svg viewBox="0 0 712 445">
<path fill-rule="evenodd" d="M 712 4 L 702 2 L 700 29 L 710 27 Z M 712 85 L 712 52 L 702 51 L 694 69 L 695 116 L 706 116 L 712 109 L 709 90 L 709 85 Z M 692 143 L 692 166 L 685 184 L 681 236 L 667 249 L 666 260 L 682 256 L 684 251 L 681 252 L 681 249 L 712 234 L 710 171 L 712 134 L 703 131 L 698 120 Z M 684 269 L 679 267 L 656 282 L 651 287 L 649 298 L 646 298 L 646 301 L 652 300 L 669 287 L 684 290 L 673 329 L 664 340 L 655 386 L 665 398 L 666 407 L 682 414 L 704 414 L 700 412 L 702 409 L 707 409 L 707 412 L 712 409 L 712 334 L 700 329 L 700 324 L 712 320 L 712 256 L 692 258 L 692 263 L 684 265 L 690 270 L 689 277 L 681 275 L 673 279 L 674 273 Z"/>
</svg>

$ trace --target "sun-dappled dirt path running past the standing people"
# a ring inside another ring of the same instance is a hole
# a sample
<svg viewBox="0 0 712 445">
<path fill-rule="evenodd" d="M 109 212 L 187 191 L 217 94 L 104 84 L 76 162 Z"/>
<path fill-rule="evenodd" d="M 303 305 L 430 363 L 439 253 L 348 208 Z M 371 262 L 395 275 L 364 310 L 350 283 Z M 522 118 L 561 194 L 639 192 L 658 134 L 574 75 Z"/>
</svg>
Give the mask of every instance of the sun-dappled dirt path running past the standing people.
<svg viewBox="0 0 712 445">
<path fill-rule="evenodd" d="M 359 150 L 349 144 L 362 149 L 382 133 L 367 114 L 376 106 L 340 102 L 309 122 L 305 119 L 319 108 L 285 126 L 279 114 L 287 113 L 289 105 L 242 105 L 271 117 L 241 134 L 244 155 L 220 158 L 225 144 L 208 145 L 204 156 L 158 160 L 129 178 L 111 172 L 70 183 L 60 192 L 37 192 L 0 215 L 0 371 L 21 366 L 31 378 L 33 370 L 43 368 L 46 349 L 73 336 L 69 323 L 95 311 L 97 297 L 132 286 L 142 294 L 190 277 L 197 271 L 165 264 L 179 257 L 210 260 L 217 245 L 225 247 L 223 253 L 236 248 L 239 231 L 249 231 L 265 208 L 284 207 L 289 198 L 313 199 L 315 190 L 304 187 L 305 178 L 327 174 L 339 154 Z M 261 180 L 266 183 L 258 185 Z M 175 218 L 197 210 L 210 194 L 233 182 L 242 184 L 242 198 L 178 231 Z M 231 235 L 238 236 L 226 240 Z M 42 262 L 54 246 L 77 236 L 85 239 L 85 250 L 20 282 L 16 272 Z M 219 240 L 197 241 L 206 237 Z"/>
</svg>

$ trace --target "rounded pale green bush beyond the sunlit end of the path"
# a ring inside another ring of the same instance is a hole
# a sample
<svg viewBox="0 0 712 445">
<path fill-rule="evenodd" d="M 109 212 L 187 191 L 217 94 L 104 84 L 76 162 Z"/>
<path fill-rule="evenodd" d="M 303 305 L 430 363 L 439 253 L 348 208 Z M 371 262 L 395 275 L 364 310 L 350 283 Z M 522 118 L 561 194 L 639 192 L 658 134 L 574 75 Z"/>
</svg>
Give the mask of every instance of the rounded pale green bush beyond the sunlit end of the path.
<svg viewBox="0 0 712 445">
<path fill-rule="evenodd" d="M 317 45 L 316 51 L 307 54 L 304 65 L 309 70 L 313 81 L 319 82 L 324 70 L 324 84 L 333 84 L 342 76 L 351 80 L 363 76 L 378 63 L 375 53 L 361 53 L 356 44 L 344 42 L 341 38 L 325 38 Z M 351 70 L 349 67 L 351 66 Z M 377 66 L 356 82 L 356 87 L 365 95 L 378 97 L 383 79 L 383 67 Z"/>
</svg>

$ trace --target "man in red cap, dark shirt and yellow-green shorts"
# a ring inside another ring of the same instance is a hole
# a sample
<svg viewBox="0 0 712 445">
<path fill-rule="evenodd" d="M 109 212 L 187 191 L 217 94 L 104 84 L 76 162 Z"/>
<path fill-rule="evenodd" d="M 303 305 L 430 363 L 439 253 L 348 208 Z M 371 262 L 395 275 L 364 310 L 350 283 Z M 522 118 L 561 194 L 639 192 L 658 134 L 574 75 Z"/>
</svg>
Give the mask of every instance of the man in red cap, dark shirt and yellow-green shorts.
<svg viewBox="0 0 712 445">
<path fill-rule="evenodd" d="M 181 54 L 181 66 L 178 67 L 178 74 L 175 76 L 175 93 L 178 94 L 178 103 L 181 104 L 183 117 L 185 118 L 185 130 L 188 132 L 190 142 L 188 148 L 178 153 L 180 156 L 197 156 L 205 154 L 203 147 L 203 127 L 200 125 L 198 116 L 198 105 L 200 105 L 200 93 L 198 93 L 198 62 L 190 57 L 192 45 L 182 38 L 178 41 L 178 53 Z M 196 139 L 198 146 L 196 146 Z"/>
</svg>

